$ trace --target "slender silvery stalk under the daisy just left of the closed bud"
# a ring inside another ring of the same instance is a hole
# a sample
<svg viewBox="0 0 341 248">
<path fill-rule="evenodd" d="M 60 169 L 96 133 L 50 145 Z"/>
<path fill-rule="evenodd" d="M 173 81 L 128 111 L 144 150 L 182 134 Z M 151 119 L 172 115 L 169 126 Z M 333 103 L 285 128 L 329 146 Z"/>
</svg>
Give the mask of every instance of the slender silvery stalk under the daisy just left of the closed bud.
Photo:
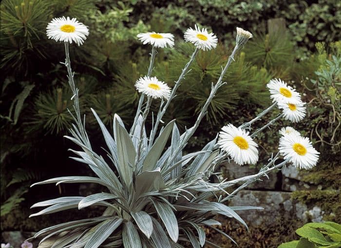
<svg viewBox="0 0 341 248">
<path fill-rule="evenodd" d="M 179 76 L 178 80 L 175 82 L 175 85 L 174 85 L 174 87 L 173 87 L 173 89 L 172 89 L 172 91 L 170 93 L 170 97 L 168 98 L 165 106 L 163 106 L 163 104 L 161 103 L 159 111 L 157 113 L 155 124 L 153 125 L 152 131 L 151 131 L 151 134 L 150 134 L 150 137 L 149 137 L 149 145 L 148 145 L 149 149 L 151 149 L 151 147 L 152 147 L 152 144 L 153 144 L 153 141 L 154 141 L 154 138 L 155 138 L 155 135 L 156 135 L 157 128 L 158 128 L 158 126 L 160 124 L 160 121 L 162 120 L 163 115 L 166 113 L 166 110 L 167 110 L 168 106 L 170 105 L 170 102 L 174 99 L 175 93 L 176 93 L 177 89 L 179 88 L 182 79 L 184 79 L 185 75 L 188 73 L 189 66 L 194 61 L 194 59 L 195 59 L 196 55 L 198 54 L 198 52 L 199 52 L 199 48 L 196 47 L 194 52 L 193 52 L 193 54 L 192 54 L 192 56 L 190 57 L 189 61 L 185 65 L 184 69 L 182 69 L 181 75 Z"/>
</svg>

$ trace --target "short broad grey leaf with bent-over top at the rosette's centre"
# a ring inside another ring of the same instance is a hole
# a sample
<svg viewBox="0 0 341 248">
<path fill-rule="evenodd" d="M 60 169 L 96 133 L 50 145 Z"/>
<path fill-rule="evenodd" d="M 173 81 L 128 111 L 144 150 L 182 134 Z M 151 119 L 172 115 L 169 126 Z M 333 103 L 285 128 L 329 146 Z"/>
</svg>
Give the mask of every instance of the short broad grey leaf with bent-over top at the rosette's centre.
<svg viewBox="0 0 341 248">
<path fill-rule="evenodd" d="M 144 171 L 135 179 L 136 195 L 165 188 L 160 168 L 154 171 Z"/>
</svg>

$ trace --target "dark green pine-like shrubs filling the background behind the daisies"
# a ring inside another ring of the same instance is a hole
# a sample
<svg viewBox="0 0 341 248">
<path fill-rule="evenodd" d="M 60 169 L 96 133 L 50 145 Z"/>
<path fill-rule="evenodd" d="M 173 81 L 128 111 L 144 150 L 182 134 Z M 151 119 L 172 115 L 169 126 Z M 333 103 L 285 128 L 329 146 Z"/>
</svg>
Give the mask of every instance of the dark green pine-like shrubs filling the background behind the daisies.
<svg viewBox="0 0 341 248">
<path fill-rule="evenodd" d="M 45 34 L 47 23 L 60 16 L 76 17 L 90 29 L 85 44 L 71 48 L 71 57 L 87 129 L 98 147 L 103 143 L 90 107 L 108 126 L 114 113 L 126 124 L 132 122 L 138 101 L 133 84 L 146 74 L 150 53 L 150 47 L 137 40 L 138 33 L 175 34 L 175 49 L 158 50 L 153 71 L 170 86 L 194 49 L 182 39 L 188 27 L 200 24 L 219 38 L 217 49 L 199 53 L 166 114 L 165 121 L 176 117 L 183 131 L 209 95 L 239 26 L 255 37 L 235 57 L 224 78 L 228 84 L 213 99 L 207 121 L 189 149 L 202 147 L 223 125 L 237 125 L 260 113 L 270 103 L 266 83 L 281 77 L 309 102 L 309 121 L 295 127 L 322 153 L 320 165 L 305 179 L 340 191 L 340 184 L 334 182 L 341 175 L 341 1 L 2 0 L 0 11 L 1 229 L 11 227 L 8 222 L 19 208 L 27 209 L 46 197 L 44 192 L 29 189 L 32 182 L 89 173 L 68 159 L 71 144 L 63 138 L 71 124 L 67 112 L 71 93 L 65 69 L 58 63 L 64 61 L 63 46 Z M 273 18 L 284 19 L 285 29 L 269 32 L 267 20 Z M 267 140 L 262 144 L 263 155 L 276 149 L 276 130 L 259 137 Z M 327 159 L 331 154 L 334 162 Z M 78 189 L 51 186 L 46 191 L 58 195 Z M 314 195 L 320 197 L 323 210 L 340 211 L 340 198 L 336 199 L 339 205 L 331 206 L 319 192 L 295 192 L 301 201 L 313 201 Z M 340 223 L 340 216 L 333 220 Z"/>
</svg>

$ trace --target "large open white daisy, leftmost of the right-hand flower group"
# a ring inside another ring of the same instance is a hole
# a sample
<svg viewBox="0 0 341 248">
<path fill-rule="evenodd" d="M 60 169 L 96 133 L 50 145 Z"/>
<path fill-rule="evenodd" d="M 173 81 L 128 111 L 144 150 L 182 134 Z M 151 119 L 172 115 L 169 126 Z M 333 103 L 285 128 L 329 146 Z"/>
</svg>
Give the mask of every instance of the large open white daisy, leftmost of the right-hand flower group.
<svg viewBox="0 0 341 248">
<path fill-rule="evenodd" d="M 258 145 L 244 129 L 228 124 L 219 132 L 218 145 L 239 165 L 258 161 Z"/>
</svg>

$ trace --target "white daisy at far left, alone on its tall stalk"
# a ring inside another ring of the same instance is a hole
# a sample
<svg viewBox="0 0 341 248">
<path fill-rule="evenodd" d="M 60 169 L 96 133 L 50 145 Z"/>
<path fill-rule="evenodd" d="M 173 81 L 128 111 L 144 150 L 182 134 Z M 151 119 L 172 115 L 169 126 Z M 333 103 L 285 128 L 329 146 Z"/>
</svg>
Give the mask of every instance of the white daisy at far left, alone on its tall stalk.
<svg viewBox="0 0 341 248">
<path fill-rule="evenodd" d="M 46 34 L 50 39 L 69 43 L 75 41 L 79 46 L 83 44 L 89 35 L 89 29 L 83 23 L 77 21 L 76 18 L 61 17 L 50 21 L 46 28 Z"/>
</svg>

